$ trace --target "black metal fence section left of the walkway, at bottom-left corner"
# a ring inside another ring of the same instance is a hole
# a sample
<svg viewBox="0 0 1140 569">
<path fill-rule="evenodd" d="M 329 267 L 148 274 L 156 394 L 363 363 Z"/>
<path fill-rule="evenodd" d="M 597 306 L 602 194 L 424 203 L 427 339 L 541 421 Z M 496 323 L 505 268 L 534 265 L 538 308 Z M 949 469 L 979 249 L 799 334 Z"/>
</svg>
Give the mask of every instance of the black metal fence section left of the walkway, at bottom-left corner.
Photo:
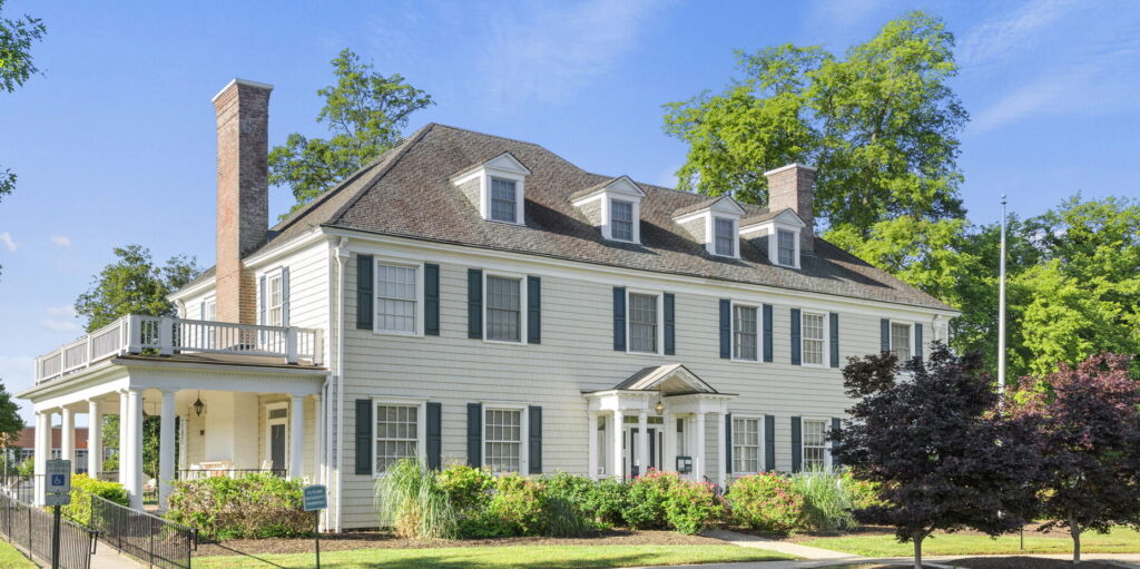
<svg viewBox="0 0 1140 569">
<path fill-rule="evenodd" d="M 0 533 L 8 542 L 44 561 L 51 559 L 52 522 L 50 513 L 0 494 Z M 63 520 L 59 525 L 59 567 L 89 569 L 95 544 L 93 531 Z"/>
</svg>

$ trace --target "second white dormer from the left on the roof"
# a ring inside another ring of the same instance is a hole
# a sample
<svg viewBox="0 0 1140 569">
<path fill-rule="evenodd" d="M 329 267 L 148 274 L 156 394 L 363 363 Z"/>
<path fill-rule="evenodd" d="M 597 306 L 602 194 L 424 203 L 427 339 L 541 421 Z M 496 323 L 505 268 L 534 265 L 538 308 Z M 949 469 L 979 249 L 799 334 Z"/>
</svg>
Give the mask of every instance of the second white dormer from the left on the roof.
<svg viewBox="0 0 1140 569">
<path fill-rule="evenodd" d="M 628 176 L 613 178 L 570 196 L 608 241 L 641 243 L 641 201 L 645 190 Z"/>
</svg>

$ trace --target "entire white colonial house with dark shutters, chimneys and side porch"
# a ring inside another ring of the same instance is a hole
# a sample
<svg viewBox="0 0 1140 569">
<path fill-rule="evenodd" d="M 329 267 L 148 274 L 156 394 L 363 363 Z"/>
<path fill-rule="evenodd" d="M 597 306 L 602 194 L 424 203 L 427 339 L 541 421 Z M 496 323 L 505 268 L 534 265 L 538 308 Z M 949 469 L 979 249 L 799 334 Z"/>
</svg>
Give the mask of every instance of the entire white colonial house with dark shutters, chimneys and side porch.
<svg viewBox="0 0 1140 569">
<path fill-rule="evenodd" d="M 374 479 L 404 457 L 718 483 L 826 468 L 846 358 L 920 355 L 955 316 L 817 237 L 800 164 L 766 172 L 762 208 L 429 124 L 269 227 L 270 89 L 214 97 L 217 267 L 178 317 L 64 346 L 21 393 L 40 433 L 121 415 L 137 507 L 152 478 L 161 506 L 176 478 L 272 470 L 328 486 L 326 528 L 374 527 Z"/>
</svg>

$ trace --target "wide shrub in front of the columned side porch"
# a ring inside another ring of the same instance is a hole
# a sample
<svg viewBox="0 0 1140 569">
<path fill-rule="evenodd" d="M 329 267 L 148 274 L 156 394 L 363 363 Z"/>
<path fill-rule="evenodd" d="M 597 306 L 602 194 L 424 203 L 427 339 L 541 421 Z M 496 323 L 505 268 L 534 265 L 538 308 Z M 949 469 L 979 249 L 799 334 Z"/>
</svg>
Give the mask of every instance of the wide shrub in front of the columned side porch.
<svg viewBox="0 0 1140 569">
<path fill-rule="evenodd" d="M 166 518 L 214 539 L 293 537 L 312 528 L 301 482 L 264 473 L 174 482 Z"/>
</svg>

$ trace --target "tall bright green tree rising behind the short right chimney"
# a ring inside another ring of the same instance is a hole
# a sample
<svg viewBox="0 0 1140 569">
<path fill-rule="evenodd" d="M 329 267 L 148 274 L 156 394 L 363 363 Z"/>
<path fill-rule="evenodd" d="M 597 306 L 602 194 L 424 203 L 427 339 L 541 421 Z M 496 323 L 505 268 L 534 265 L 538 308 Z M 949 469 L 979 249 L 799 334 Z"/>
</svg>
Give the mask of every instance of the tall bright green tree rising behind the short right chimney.
<svg viewBox="0 0 1140 569">
<path fill-rule="evenodd" d="M 866 237 L 901 216 L 961 217 L 953 46 L 940 19 L 914 11 L 842 58 L 790 43 L 738 54 L 743 79 L 726 91 L 666 105 L 666 131 L 689 144 L 681 187 L 764 204 L 763 172 L 805 162 L 833 229 Z"/>
</svg>

